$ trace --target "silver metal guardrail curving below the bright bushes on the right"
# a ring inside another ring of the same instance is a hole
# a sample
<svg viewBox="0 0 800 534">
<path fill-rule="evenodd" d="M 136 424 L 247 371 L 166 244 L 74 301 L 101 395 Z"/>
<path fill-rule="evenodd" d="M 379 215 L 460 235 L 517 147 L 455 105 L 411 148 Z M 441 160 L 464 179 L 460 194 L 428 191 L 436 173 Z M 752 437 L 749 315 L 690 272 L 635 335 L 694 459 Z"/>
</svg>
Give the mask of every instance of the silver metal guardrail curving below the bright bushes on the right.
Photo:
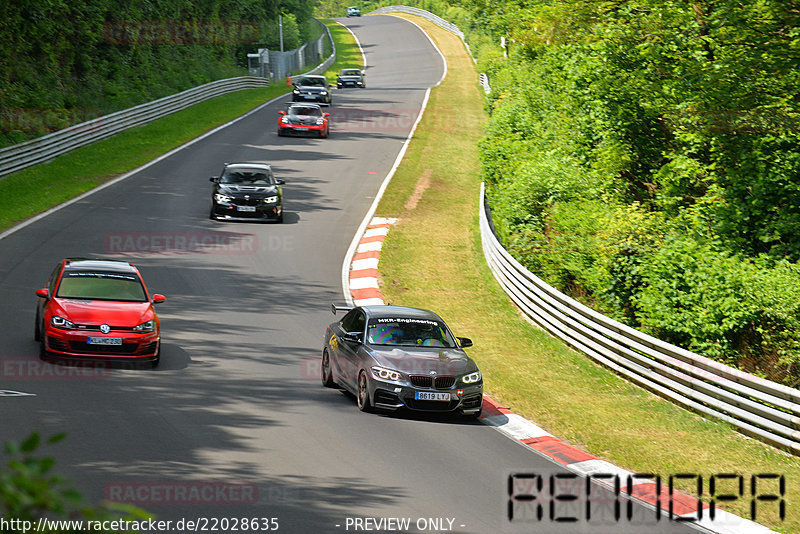
<svg viewBox="0 0 800 534">
<path fill-rule="evenodd" d="M 480 230 L 489 268 L 525 315 L 629 380 L 742 433 L 800 454 L 800 391 L 639 332 L 560 293 L 528 271 L 494 234 L 484 186 Z"/>
</svg>

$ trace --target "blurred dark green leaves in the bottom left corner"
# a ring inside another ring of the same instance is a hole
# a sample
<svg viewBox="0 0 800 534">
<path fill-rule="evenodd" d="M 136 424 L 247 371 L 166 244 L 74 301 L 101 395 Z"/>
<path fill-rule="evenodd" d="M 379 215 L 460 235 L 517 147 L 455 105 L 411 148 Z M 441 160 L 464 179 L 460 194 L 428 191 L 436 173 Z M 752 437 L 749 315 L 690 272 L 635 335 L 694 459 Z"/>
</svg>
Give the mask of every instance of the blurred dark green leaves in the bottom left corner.
<svg viewBox="0 0 800 534">
<path fill-rule="evenodd" d="M 64 434 L 55 435 L 47 444 L 58 443 Z M 49 520 L 73 520 L 92 522 L 124 520 L 130 522 L 146 521 L 150 516 L 130 505 L 106 503 L 90 506 L 83 502 L 83 496 L 76 491 L 63 476 L 53 473 L 55 460 L 40 457 L 36 453 L 42 445 L 41 437 L 34 432 L 23 442 L 9 441 L 4 446 L 7 460 L 0 465 L 0 518 L 6 522 L 3 532 L 8 534 L 32 532 L 37 529 L 40 518 Z M 135 524 L 135 523 L 132 523 Z M 72 527 L 63 523 L 58 528 L 44 523 L 39 532 L 66 534 L 80 532 L 78 524 Z M 106 532 L 117 532 L 106 530 Z M 126 532 L 136 532 L 127 530 Z"/>
</svg>

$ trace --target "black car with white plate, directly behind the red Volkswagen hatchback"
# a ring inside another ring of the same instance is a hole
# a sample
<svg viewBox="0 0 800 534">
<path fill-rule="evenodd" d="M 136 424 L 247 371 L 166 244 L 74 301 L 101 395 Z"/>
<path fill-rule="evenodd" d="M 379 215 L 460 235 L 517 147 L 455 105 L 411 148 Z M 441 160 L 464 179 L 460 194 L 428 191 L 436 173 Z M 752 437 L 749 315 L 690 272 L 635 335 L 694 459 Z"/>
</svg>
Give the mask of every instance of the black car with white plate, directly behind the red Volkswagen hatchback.
<svg viewBox="0 0 800 534">
<path fill-rule="evenodd" d="M 283 188 L 264 163 L 226 163 L 212 176 L 211 219 L 283 222 Z"/>
</svg>

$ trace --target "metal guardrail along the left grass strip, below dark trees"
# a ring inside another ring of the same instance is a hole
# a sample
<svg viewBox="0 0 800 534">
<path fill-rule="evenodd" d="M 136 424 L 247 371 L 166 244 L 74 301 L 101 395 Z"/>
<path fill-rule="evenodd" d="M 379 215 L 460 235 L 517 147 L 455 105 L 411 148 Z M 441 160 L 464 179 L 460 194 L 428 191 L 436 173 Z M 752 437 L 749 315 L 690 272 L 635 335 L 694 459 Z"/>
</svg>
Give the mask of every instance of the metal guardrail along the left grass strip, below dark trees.
<svg viewBox="0 0 800 534">
<path fill-rule="evenodd" d="M 322 23 L 320 22 L 320 24 Z M 336 60 L 336 45 L 333 42 L 333 37 L 328 27 L 324 24 L 323 26 L 331 43 L 333 53 L 321 65 L 306 74 L 325 72 Z M 323 35 L 319 39 L 321 40 L 324 37 Z M 255 76 L 217 80 L 0 149 L 0 178 L 12 172 L 50 161 L 57 156 L 111 137 L 128 128 L 160 119 L 209 98 L 242 89 L 267 87 L 269 85 L 270 81 L 267 78 Z"/>
</svg>

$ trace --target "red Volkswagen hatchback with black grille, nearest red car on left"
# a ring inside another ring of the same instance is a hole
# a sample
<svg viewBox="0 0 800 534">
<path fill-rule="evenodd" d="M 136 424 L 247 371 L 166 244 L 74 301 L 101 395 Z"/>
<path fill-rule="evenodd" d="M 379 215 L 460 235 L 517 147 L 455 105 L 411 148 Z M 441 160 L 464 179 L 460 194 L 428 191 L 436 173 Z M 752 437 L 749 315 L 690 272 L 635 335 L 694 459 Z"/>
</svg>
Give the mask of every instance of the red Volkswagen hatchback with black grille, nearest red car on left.
<svg viewBox="0 0 800 534">
<path fill-rule="evenodd" d="M 158 365 L 161 324 L 138 269 L 128 262 L 66 259 L 36 290 L 34 337 L 42 359 L 132 360 Z"/>
</svg>

